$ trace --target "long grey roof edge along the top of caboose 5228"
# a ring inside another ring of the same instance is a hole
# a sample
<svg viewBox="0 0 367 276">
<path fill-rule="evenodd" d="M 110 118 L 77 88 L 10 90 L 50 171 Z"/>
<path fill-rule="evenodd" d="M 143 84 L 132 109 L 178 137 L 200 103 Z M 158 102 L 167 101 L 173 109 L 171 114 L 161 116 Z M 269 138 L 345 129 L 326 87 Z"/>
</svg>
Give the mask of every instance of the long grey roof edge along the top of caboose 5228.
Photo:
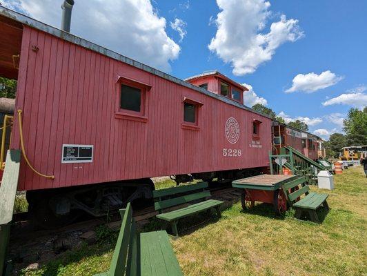
<svg viewBox="0 0 367 276">
<path fill-rule="evenodd" d="M 257 114 L 259 114 L 263 117 L 270 118 L 269 115 L 264 114 L 262 112 L 259 112 L 257 110 L 253 110 L 252 108 L 249 108 L 248 106 L 244 106 L 241 103 L 237 103 L 236 101 L 232 101 L 231 99 L 228 99 L 226 97 L 221 97 L 220 95 L 216 95 L 215 93 L 209 92 L 208 90 L 206 90 L 204 88 L 200 88 L 200 87 L 195 86 L 191 83 L 188 83 L 187 81 L 184 81 L 182 79 L 178 79 L 177 77 L 173 77 L 171 75 L 168 75 L 165 72 L 162 72 L 160 70 L 157 70 L 155 68 L 147 66 L 143 63 L 140 63 L 139 61 L 135 61 L 134 59 L 130 59 L 129 57 L 125 57 L 123 55 L 120 55 L 117 52 L 114 52 L 112 50 L 108 50 L 107 48 L 103 48 L 102 46 L 99 46 L 96 43 L 92 43 L 92 42 L 90 42 L 86 39 L 82 39 L 81 37 L 77 37 L 74 34 L 70 34 L 69 32 L 64 32 L 63 30 L 60 30 L 58 28 L 54 28 L 52 26 L 47 25 L 46 23 L 43 23 L 43 22 L 38 21 L 36 19 L 32 19 L 32 18 L 30 18 L 30 17 L 28 17 L 24 14 L 21 14 L 19 12 L 15 12 L 14 10 L 10 10 L 10 9 L 5 8 L 3 6 L 0 6 L 0 21 L 6 21 L 6 23 L 8 25 L 17 26 L 17 27 L 20 26 L 19 25 L 19 23 L 20 23 L 22 25 L 29 26 L 30 28 L 35 28 L 37 30 L 47 32 L 48 34 L 51 34 L 54 37 L 59 37 L 59 39 L 63 39 L 63 40 L 68 41 L 70 43 L 74 43 L 74 44 L 79 45 L 79 46 L 81 46 L 83 48 L 86 48 L 88 50 L 92 50 L 94 52 L 99 52 L 101 55 L 104 55 L 106 57 L 110 57 L 112 59 L 116 59 L 116 60 L 121 61 L 123 63 L 126 63 L 130 66 L 134 66 L 136 68 L 139 68 L 140 70 L 144 70 L 146 72 L 149 72 L 152 75 L 156 75 L 157 77 L 161 77 L 163 79 L 167 79 L 168 81 L 172 81 L 174 83 L 177 83 L 181 86 L 185 86 L 185 87 L 190 88 L 192 90 L 196 90 L 197 92 L 200 92 L 201 94 L 204 94 L 204 95 L 207 95 L 209 97 L 215 98 L 219 101 L 224 101 L 225 103 L 228 103 L 232 106 L 236 106 L 237 108 L 248 110 L 250 112 L 257 113 Z M 1 30 L 0 30 L 0 32 L 1 32 Z"/>
</svg>

